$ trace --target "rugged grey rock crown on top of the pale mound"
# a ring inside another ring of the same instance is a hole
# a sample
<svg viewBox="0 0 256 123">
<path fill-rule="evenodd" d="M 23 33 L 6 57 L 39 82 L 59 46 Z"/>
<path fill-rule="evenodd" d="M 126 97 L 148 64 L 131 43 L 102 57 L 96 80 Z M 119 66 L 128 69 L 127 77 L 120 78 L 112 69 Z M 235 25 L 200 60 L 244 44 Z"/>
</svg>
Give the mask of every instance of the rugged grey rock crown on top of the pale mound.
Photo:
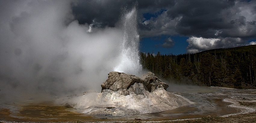
<svg viewBox="0 0 256 123">
<path fill-rule="evenodd" d="M 110 89 L 121 95 L 129 95 L 130 92 L 141 94 L 141 89 L 136 88 L 136 85 L 134 85 L 135 83 L 142 83 L 145 90 L 149 92 L 154 91 L 157 88 L 163 88 L 166 90 L 166 88 L 169 87 L 168 84 L 162 82 L 152 72 L 142 75 L 141 78 L 122 72 L 110 72 L 108 74 L 108 79 L 101 84 L 101 92 L 105 91 L 106 89 Z"/>
</svg>

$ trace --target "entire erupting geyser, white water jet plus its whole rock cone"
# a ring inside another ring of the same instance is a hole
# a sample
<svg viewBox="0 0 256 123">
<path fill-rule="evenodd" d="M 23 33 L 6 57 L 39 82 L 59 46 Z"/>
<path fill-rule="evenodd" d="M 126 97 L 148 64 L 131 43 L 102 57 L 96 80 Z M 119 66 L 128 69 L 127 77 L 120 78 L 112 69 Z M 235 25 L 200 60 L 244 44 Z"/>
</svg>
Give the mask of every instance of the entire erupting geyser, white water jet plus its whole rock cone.
<svg viewBox="0 0 256 123">
<path fill-rule="evenodd" d="M 166 91 L 169 85 L 152 72 L 141 77 L 135 76 L 142 72 L 136 20 L 135 7 L 122 17 L 123 37 L 120 61 L 114 68 L 115 72 L 110 72 L 108 79 L 101 84 L 101 93 L 87 92 L 78 97 L 59 99 L 57 103 L 72 106 L 77 111 L 90 115 L 144 114 L 175 109 L 193 103 L 182 95 Z"/>
</svg>

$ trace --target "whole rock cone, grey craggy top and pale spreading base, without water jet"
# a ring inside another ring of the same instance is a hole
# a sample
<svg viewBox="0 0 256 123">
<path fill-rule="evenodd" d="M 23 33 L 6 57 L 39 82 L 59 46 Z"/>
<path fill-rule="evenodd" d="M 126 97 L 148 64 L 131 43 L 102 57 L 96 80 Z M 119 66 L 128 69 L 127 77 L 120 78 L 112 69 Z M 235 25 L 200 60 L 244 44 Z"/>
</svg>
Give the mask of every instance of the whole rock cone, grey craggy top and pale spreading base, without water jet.
<svg viewBox="0 0 256 123">
<path fill-rule="evenodd" d="M 192 104 L 185 97 L 166 91 L 168 85 L 152 72 L 141 77 L 110 72 L 101 93 L 87 93 L 66 104 L 91 115 L 135 115 L 161 112 Z"/>
</svg>

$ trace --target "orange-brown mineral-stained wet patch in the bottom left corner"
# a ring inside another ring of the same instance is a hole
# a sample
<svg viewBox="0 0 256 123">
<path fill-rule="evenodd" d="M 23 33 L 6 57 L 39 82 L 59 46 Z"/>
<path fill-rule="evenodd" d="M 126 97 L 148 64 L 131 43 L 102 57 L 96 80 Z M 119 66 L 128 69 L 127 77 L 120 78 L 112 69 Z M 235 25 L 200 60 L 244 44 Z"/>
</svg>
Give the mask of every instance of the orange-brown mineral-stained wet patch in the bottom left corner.
<svg viewBox="0 0 256 123">
<path fill-rule="evenodd" d="M 18 113 L 1 109 L 0 114 L 1 120 L 20 122 L 71 122 L 93 119 L 92 116 L 78 113 L 73 108 L 37 104 L 21 106 Z"/>
</svg>

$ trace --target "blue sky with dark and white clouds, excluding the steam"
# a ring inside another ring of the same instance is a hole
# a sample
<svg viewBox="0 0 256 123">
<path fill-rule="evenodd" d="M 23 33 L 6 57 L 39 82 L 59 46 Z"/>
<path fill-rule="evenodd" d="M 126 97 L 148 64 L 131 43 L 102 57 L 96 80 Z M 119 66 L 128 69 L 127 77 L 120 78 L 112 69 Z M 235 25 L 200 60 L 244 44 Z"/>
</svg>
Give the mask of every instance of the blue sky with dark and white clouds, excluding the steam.
<svg viewBox="0 0 256 123">
<path fill-rule="evenodd" d="M 79 23 L 114 27 L 120 8 L 135 1 L 79 1 L 72 10 Z M 195 53 L 256 42 L 255 0 L 140 0 L 141 51 Z"/>
</svg>

